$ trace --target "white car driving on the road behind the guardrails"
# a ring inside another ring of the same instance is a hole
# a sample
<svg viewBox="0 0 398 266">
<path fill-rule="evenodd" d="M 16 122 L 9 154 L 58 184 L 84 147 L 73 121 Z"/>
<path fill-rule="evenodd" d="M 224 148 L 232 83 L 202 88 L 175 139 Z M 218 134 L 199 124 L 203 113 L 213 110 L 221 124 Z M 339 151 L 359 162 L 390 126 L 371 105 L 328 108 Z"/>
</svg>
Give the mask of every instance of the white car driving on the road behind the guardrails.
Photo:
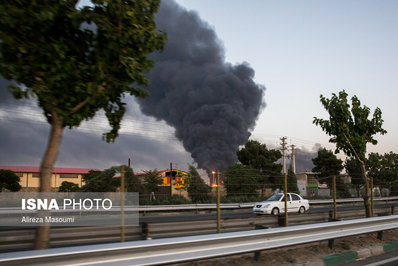
<svg viewBox="0 0 398 266">
<path fill-rule="evenodd" d="M 287 193 L 287 210 L 288 212 L 304 213 L 310 208 L 308 200 L 303 199 L 296 193 Z M 273 214 L 285 212 L 284 193 L 277 193 L 262 202 L 254 204 L 253 212 L 255 214 Z"/>
</svg>

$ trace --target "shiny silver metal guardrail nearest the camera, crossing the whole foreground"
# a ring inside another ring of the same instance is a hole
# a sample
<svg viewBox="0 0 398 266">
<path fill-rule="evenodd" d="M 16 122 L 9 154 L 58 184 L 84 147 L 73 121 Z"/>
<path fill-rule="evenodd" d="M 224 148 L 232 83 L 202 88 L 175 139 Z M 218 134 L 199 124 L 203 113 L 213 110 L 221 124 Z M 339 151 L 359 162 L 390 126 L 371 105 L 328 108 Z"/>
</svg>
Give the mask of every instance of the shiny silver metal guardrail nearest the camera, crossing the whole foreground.
<svg viewBox="0 0 398 266">
<path fill-rule="evenodd" d="M 158 265 L 398 228 L 398 215 L 255 231 L 0 254 L 2 265 Z"/>
</svg>

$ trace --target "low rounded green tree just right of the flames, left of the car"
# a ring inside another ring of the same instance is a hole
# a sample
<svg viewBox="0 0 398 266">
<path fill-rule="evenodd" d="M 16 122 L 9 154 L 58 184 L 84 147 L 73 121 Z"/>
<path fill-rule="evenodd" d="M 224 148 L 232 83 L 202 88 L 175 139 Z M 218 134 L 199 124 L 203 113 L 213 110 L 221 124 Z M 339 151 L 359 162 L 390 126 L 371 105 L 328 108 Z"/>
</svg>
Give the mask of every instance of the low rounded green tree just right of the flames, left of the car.
<svg viewBox="0 0 398 266">
<path fill-rule="evenodd" d="M 257 198 L 260 178 L 258 170 L 251 166 L 235 164 L 228 167 L 224 180 L 227 197 Z"/>
</svg>

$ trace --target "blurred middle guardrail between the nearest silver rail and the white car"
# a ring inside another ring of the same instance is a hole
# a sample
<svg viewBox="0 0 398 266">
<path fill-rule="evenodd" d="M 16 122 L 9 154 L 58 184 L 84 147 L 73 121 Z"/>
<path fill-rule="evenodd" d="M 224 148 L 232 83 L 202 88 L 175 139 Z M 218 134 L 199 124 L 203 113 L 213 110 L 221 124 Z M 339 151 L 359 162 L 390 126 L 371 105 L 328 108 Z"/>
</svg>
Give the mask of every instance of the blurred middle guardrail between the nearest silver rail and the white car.
<svg viewBox="0 0 398 266">
<path fill-rule="evenodd" d="M 394 207 L 376 206 L 375 216 L 393 215 Z M 328 222 L 333 219 L 332 212 L 316 211 L 304 215 L 289 214 L 289 225 L 302 225 Z M 216 233 L 215 216 L 190 215 L 141 217 L 137 226 L 126 225 L 126 241 L 193 236 Z M 364 209 L 339 209 L 338 219 L 358 219 L 366 217 Z M 180 217 L 181 218 L 181 217 Z M 248 216 L 227 214 L 221 219 L 221 232 L 236 232 L 259 228 L 272 228 L 284 224 L 284 216 Z M 33 249 L 35 228 L 0 229 L 0 252 Z M 120 226 L 52 227 L 50 246 L 65 247 L 74 245 L 112 243 L 120 241 Z"/>
</svg>

